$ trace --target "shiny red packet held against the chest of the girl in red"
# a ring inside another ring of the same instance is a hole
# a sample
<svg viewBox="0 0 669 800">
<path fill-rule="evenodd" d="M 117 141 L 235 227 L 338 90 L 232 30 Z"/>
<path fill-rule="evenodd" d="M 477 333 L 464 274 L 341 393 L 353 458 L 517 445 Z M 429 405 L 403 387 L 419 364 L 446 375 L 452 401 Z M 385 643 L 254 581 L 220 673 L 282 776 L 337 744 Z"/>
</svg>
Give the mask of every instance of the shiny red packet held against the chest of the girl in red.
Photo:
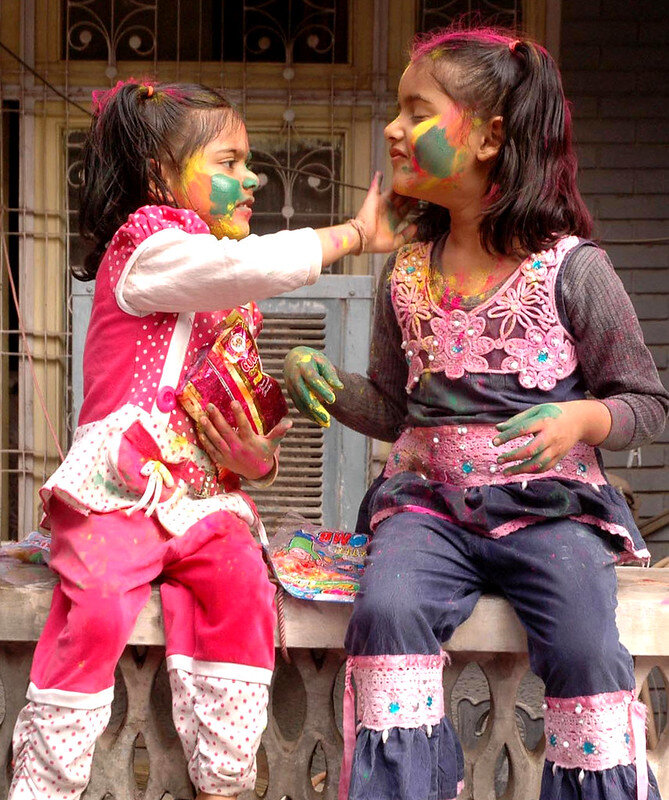
<svg viewBox="0 0 669 800">
<path fill-rule="evenodd" d="M 233 428 L 237 423 L 230 403 L 237 400 L 261 435 L 288 413 L 281 387 L 263 372 L 255 339 L 238 311 L 227 317 L 214 344 L 198 351 L 177 388 L 177 399 L 196 422 L 213 403 Z"/>
</svg>

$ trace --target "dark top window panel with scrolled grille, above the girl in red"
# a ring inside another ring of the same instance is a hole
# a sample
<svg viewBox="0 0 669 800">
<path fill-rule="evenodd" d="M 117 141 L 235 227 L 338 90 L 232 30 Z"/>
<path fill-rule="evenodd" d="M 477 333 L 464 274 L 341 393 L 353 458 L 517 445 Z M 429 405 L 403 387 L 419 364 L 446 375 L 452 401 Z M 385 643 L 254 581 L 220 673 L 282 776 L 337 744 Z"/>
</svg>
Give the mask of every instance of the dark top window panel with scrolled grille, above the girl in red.
<svg viewBox="0 0 669 800">
<path fill-rule="evenodd" d="M 63 58 L 346 63 L 347 0 L 69 0 Z M 198 24 L 193 24 L 196 19 Z M 240 35 L 241 32 L 241 35 Z"/>
</svg>

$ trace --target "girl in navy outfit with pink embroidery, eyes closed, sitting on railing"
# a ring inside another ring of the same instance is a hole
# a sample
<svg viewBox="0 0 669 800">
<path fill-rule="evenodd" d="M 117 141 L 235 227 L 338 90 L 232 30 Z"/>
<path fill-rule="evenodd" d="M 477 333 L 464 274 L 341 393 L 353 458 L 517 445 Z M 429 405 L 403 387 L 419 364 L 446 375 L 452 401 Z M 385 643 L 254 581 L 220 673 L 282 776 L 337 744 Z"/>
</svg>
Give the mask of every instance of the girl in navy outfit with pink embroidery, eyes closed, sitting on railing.
<svg viewBox="0 0 669 800">
<path fill-rule="evenodd" d="M 530 41 L 438 32 L 398 102 L 393 187 L 426 209 L 381 276 L 368 375 L 338 378 L 306 348 L 285 368 L 304 413 L 331 403 L 394 442 L 358 528 L 374 535 L 346 637 L 340 800 L 462 791 L 441 645 L 486 591 L 513 605 L 546 687 L 533 798 L 658 800 L 615 617 L 614 566 L 649 553 L 597 446 L 657 436 L 669 394 L 588 241 L 559 72 Z"/>
</svg>

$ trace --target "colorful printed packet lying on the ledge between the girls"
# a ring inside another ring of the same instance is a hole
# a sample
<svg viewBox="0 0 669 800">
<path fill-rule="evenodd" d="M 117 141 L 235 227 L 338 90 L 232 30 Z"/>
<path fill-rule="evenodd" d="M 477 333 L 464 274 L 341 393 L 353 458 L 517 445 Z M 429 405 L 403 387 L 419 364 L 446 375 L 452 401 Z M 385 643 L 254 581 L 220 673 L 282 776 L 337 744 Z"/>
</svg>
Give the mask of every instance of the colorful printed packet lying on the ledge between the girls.
<svg viewBox="0 0 669 800">
<path fill-rule="evenodd" d="M 289 515 L 266 547 L 276 579 L 293 597 L 352 603 L 370 537 L 328 530 Z"/>
</svg>

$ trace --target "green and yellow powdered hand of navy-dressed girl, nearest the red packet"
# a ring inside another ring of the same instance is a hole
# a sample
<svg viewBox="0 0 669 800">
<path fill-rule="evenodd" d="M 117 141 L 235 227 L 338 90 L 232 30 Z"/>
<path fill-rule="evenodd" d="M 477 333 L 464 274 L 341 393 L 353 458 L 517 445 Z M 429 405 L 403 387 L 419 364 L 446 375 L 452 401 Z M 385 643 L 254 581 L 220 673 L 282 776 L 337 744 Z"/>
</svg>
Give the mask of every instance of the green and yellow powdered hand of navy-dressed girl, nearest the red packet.
<svg viewBox="0 0 669 800">
<path fill-rule="evenodd" d="M 311 347 L 294 347 L 284 360 L 283 375 L 297 410 L 328 428 L 330 415 L 323 403 L 334 403 L 333 389 L 344 388 L 329 359 Z"/>
</svg>

